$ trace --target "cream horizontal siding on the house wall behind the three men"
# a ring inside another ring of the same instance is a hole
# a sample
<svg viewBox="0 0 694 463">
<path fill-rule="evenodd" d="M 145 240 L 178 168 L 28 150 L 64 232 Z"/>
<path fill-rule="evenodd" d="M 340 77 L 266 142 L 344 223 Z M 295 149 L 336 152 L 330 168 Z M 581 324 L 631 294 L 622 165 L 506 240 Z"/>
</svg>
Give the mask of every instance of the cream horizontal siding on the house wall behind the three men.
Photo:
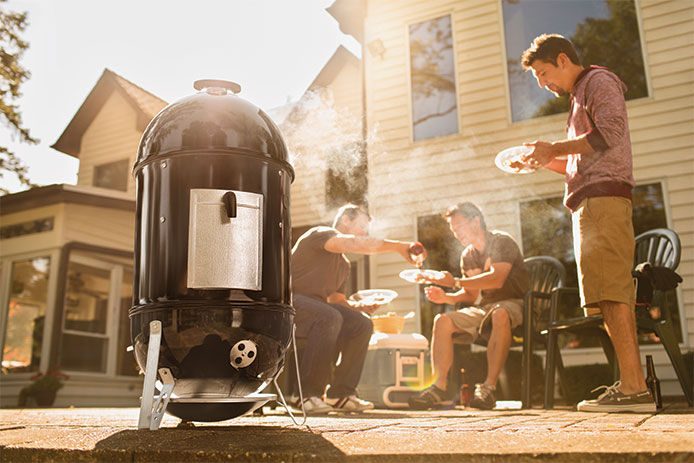
<svg viewBox="0 0 694 463">
<path fill-rule="evenodd" d="M 636 2 L 650 96 L 627 102 L 637 184 L 662 182 L 669 226 L 682 241 L 678 272 L 687 340 L 694 343 L 694 3 Z M 459 133 L 412 141 L 408 25 L 451 14 Z M 510 119 L 501 2 L 370 1 L 365 43 L 380 39 L 382 57 L 365 53 L 369 133 L 369 203 L 374 233 L 416 238 L 416 218 L 461 200 L 481 206 L 490 227 L 519 243 L 521 201 L 558 196 L 563 178 L 551 172 L 507 175 L 495 154 L 532 139 L 562 139 L 566 114 L 513 123 Z M 416 288 L 399 278 L 395 255 L 371 257 L 371 286 L 395 289 L 393 309 L 418 307 Z M 393 310 L 389 309 L 389 310 Z M 416 322 L 406 330 L 418 330 Z M 656 357 L 663 365 L 667 360 Z M 668 373 L 674 377 L 674 373 Z"/>
</svg>

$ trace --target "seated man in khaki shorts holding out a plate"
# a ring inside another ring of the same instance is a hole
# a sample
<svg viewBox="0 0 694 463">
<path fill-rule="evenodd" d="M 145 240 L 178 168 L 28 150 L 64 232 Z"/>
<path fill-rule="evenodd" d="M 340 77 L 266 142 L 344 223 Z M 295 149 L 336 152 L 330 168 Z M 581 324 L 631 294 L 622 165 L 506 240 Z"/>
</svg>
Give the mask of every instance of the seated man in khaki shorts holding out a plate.
<svg viewBox="0 0 694 463">
<path fill-rule="evenodd" d="M 455 288 L 444 292 L 439 286 L 425 288 L 427 298 L 437 304 L 473 304 L 438 315 L 431 338 L 431 360 L 435 383 L 409 400 L 417 409 L 442 408 L 453 403 L 455 392 L 447 389 L 456 341 L 473 343 L 488 339 L 487 378 L 477 384 L 471 406 L 494 408 L 494 392 L 501 368 L 511 346 L 511 331 L 523 322 L 523 296 L 530 287 L 528 272 L 518 245 L 508 234 L 487 231 L 482 213 L 472 203 L 458 203 L 443 214 L 456 239 L 465 247 L 460 256 L 463 278 L 445 277 L 429 282 Z M 460 333 L 460 334 L 459 334 Z"/>
</svg>

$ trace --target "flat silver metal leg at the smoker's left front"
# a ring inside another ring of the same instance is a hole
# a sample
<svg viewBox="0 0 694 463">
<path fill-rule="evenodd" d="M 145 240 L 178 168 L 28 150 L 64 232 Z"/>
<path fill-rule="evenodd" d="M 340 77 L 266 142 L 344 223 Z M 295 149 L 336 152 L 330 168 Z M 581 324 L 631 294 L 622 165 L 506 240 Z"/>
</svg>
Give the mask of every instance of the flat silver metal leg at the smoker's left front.
<svg viewBox="0 0 694 463">
<path fill-rule="evenodd" d="M 138 429 L 159 429 L 161 420 L 169 404 L 174 380 L 168 368 L 159 369 L 163 387 L 161 394 L 154 396 L 154 383 L 157 380 L 159 365 L 159 346 L 161 345 L 161 322 L 153 320 L 149 323 L 149 346 L 147 347 L 147 365 L 145 366 L 145 381 L 142 385 L 142 403 Z M 156 403 L 153 401 L 156 399 Z"/>
</svg>

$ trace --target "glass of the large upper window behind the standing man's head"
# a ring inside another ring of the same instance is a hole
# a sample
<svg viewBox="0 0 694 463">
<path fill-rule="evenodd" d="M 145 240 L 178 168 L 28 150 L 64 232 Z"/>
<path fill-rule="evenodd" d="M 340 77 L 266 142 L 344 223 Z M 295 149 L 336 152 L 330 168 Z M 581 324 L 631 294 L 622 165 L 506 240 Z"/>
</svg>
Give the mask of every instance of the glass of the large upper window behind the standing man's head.
<svg viewBox="0 0 694 463">
<path fill-rule="evenodd" d="M 596 64 L 627 85 L 628 100 L 648 95 L 634 0 L 502 0 L 512 120 L 568 111 L 568 97 L 537 86 L 520 64 L 523 52 L 543 33 L 570 39 L 584 66 Z"/>
</svg>

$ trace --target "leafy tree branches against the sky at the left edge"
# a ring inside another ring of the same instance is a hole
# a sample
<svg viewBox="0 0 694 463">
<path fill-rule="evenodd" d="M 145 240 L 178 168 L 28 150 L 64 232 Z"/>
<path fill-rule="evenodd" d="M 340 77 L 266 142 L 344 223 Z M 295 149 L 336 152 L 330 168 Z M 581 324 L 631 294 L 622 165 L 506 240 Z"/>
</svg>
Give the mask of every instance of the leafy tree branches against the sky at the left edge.
<svg viewBox="0 0 694 463">
<path fill-rule="evenodd" d="M 21 39 L 27 22 L 27 13 L 14 13 L 7 11 L 0 0 L 0 110 L 2 121 L 10 130 L 25 143 L 36 144 L 39 142 L 32 137 L 29 130 L 22 125 L 22 116 L 15 101 L 21 96 L 20 86 L 29 77 L 30 73 L 19 62 L 29 44 Z M 27 177 L 27 167 L 15 153 L 5 146 L 0 146 L 0 178 L 5 172 L 14 173 L 22 185 L 36 186 Z M 0 191 L 7 193 L 7 189 L 0 186 Z"/>
</svg>

